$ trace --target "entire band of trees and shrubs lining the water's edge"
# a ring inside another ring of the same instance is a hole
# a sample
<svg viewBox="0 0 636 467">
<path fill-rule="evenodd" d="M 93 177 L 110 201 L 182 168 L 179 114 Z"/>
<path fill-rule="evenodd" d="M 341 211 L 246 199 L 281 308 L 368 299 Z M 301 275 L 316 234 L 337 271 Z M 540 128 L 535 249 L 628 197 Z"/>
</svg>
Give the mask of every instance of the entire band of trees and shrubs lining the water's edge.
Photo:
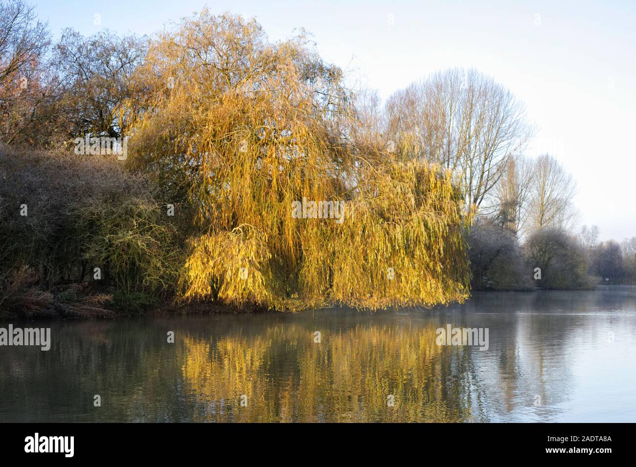
<svg viewBox="0 0 636 467">
<path fill-rule="evenodd" d="M 4 316 L 430 307 L 636 280 L 636 240 L 573 234 L 576 184 L 523 156 L 523 104 L 476 70 L 381 103 L 305 34 L 273 43 L 208 10 L 56 42 L 13 0 L 0 29 Z"/>
</svg>

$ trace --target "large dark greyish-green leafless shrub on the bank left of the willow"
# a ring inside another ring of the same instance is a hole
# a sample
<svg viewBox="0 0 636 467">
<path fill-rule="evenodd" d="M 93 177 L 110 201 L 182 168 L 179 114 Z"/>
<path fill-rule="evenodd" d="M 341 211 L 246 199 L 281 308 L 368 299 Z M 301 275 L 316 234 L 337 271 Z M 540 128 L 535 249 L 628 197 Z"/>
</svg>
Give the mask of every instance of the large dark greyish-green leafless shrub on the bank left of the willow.
<svg viewBox="0 0 636 467">
<path fill-rule="evenodd" d="M 50 289 L 100 267 L 128 292 L 173 287 L 176 229 L 115 159 L 0 148 L 0 180 L 0 275 L 24 265 Z"/>
</svg>

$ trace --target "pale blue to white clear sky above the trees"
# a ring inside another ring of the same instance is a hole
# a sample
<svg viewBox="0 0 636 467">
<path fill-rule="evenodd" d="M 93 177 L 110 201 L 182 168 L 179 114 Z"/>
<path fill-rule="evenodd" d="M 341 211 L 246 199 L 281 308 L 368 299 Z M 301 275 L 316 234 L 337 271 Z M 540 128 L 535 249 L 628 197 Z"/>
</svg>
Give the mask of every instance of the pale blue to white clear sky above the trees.
<svg viewBox="0 0 636 467">
<path fill-rule="evenodd" d="M 205 1 L 31 0 L 55 36 L 151 34 Z M 525 102 L 527 154 L 555 155 L 579 186 L 583 224 L 636 236 L 636 1 L 211 1 L 255 17 L 270 39 L 304 27 L 329 62 L 385 98 L 432 71 L 476 67 Z M 95 14 L 101 24 L 95 25 Z M 391 16 L 389 16 L 391 15 Z"/>
</svg>

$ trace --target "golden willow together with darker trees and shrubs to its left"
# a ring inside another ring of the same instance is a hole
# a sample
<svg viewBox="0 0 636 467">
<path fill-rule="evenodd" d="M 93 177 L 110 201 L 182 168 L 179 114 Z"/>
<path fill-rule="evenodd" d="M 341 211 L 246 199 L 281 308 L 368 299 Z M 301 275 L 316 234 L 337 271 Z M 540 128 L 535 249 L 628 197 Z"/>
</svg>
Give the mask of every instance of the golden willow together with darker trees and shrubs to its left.
<svg viewBox="0 0 636 467">
<path fill-rule="evenodd" d="M 6 315 L 467 297 L 472 213 L 452 173 L 363 132 L 305 36 L 272 43 L 204 10 L 149 38 L 53 43 L 27 4 L 0 8 Z M 298 219 L 300 200 L 344 203 L 344 222 Z"/>
</svg>

